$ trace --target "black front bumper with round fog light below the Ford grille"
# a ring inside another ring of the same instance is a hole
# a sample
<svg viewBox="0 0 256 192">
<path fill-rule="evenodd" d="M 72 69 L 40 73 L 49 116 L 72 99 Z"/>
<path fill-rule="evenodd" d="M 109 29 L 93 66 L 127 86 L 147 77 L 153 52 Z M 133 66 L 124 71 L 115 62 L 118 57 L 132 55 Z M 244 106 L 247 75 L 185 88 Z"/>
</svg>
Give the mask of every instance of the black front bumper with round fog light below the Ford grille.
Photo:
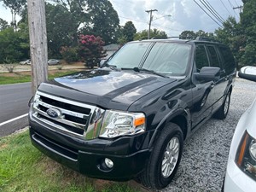
<svg viewBox="0 0 256 192">
<path fill-rule="evenodd" d="M 30 117 L 32 144 L 51 159 L 88 177 L 129 180 L 143 172 L 150 155 L 149 132 L 111 141 L 85 141 L 47 126 Z M 112 169 L 104 165 L 105 158 L 113 161 Z"/>
</svg>

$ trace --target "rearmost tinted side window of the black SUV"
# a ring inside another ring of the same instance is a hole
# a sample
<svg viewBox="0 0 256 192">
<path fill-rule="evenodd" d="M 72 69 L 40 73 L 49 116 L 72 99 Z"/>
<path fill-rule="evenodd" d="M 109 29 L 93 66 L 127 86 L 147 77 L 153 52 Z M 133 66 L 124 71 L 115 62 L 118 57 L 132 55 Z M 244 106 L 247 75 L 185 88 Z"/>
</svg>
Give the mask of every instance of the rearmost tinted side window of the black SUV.
<svg viewBox="0 0 256 192">
<path fill-rule="evenodd" d="M 218 47 L 219 55 L 223 61 L 223 67 L 226 73 L 233 73 L 236 69 L 236 62 L 228 47 Z"/>
</svg>

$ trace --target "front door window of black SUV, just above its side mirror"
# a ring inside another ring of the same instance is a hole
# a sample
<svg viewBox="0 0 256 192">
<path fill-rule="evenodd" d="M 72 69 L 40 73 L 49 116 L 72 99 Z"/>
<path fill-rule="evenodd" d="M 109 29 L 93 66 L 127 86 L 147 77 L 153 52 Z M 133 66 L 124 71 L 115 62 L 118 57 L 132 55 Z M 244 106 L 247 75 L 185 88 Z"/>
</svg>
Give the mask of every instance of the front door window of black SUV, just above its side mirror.
<svg viewBox="0 0 256 192">
<path fill-rule="evenodd" d="M 207 51 L 204 45 L 196 45 L 195 65 L 197 71 L 200 71 L 202 67 L 209 67 Z"/>
</svg>

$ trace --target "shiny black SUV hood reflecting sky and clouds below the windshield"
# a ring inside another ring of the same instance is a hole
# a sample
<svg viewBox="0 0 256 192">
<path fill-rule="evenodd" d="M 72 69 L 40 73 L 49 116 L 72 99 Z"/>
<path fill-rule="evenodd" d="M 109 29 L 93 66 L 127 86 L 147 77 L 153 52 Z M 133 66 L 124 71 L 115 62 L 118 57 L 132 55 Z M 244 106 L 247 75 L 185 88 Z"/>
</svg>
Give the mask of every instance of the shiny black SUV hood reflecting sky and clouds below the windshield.
<svg viewBox="0 0 256 192">
<path fill-rule="evenodd" d="M 83 102 L 90 102 L 103 108 L 113 108 L 114 105 L 115 109 L 127 110 L 139 98 L 173 81 L 175 79 L 149 73 L 137 73 L 132 70 L 116 72 L 96 69 L 56 78 L 53 83 L 58 86 L 49 90 L 50 86 L 45 89 L 46 84 L 44 84 L 39 90 L 81 100 L 82 96 L 76 98 L 78 91 L 73 92 L 79 90 L 78 95 L 83 93 Z M 60 90 L 57 87 L 61 87 Z M 63 87 L 68 89 L 63 90 Z M 70 90 L 69 93 L 66 93 L 67 90 Z"/>
</svg>

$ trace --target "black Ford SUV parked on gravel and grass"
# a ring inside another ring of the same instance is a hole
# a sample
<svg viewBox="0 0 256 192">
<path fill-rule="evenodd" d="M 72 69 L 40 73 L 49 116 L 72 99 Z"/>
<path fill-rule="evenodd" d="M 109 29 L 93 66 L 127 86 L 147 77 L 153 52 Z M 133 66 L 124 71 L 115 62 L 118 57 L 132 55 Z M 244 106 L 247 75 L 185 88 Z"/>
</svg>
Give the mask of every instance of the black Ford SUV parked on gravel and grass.
<svg viewBox="0 0 256 192">
<path fill-rule="evenodd" d="M 89 177 L 139 178 L 163 189 L 183 140 L 229 111 L 236 65 L 206 40 L 125 44 L 102 67 L 40 84 L 29 113 L 32 143 Z"/>
</svg>

